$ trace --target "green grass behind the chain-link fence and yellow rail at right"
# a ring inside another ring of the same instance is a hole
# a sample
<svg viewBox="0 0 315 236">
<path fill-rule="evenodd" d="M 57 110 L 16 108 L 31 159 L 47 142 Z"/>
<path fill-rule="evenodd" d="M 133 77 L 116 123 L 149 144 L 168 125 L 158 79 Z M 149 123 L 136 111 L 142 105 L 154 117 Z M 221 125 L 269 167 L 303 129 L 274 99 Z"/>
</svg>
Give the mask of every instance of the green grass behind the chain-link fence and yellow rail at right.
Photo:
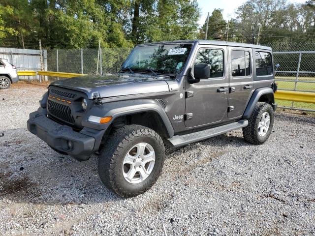
<svg viewBox="0 0 315 236">
<path fill-rule="evenodd" d="M 292 82 L 277 81 L 277 79 L 278 80 L 293 80 L 293 81 Z M 295 86 L 294 80 L 295 80 L 295 77 L 276 76 L 276 82 L 278 83 L 278 89 L 294 90 L 294 86 Z M 315 81 L 315 77 L 299 77 L 299 80 Z M 298 82 L 296 89 L 297 90 L 308 90 L 308 91 L 314 91 L 315 92 L 315 83 Z M 276 100 L 276 102 L 278 103 L 278 106 L 281 106 L 281 107 L 291 107 L 291 105 L 292 105 L 291 101 Z M 314 103 L 305 103 L 305 102 L 294 102 L 293 108 L 315 110 L 315 104 Z"/>
</svg>

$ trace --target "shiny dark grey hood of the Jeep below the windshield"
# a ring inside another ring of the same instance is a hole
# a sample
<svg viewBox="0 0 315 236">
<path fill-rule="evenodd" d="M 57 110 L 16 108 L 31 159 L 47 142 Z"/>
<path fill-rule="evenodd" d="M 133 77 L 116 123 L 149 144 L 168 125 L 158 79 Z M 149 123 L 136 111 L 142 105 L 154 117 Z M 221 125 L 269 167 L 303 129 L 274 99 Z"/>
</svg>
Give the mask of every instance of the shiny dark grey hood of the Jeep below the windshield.
<svg viewBox="0 0 315 236">
<path fill-rule="evenodd" d="M 168 92 L 168 77 L 151 77 L 148 75 L 101 75 L 81 76 L 58 80 L 51 85 L 66 89 L 82 91 L 90 99 L 97 92 L 101 98 L 124 96 L 151 92 Z"/>
</svg>

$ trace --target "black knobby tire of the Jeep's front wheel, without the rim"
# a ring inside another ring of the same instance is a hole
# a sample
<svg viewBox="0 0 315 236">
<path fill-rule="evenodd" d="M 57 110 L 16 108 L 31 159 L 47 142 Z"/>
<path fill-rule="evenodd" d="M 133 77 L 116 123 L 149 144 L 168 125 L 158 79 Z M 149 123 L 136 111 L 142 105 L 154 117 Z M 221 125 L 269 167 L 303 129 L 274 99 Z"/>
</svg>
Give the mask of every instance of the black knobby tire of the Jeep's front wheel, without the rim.
<svg viewBox="0 0 315 236">
<path fill-rule="evenodd" d="M 140 183 L 129 183 L 123 176 L 126 153 L 137 143 L 146 142 L 155 151 L 156 160 L 149 177 Z M 109 135 L 101 148 L 98 174 L 104 185 L 123 197 L 134 197 L 146 192 L 157 181 L 165 160 L 162 138 L 154 130 L 141 125 L 126 125 Z"/>
</svg>

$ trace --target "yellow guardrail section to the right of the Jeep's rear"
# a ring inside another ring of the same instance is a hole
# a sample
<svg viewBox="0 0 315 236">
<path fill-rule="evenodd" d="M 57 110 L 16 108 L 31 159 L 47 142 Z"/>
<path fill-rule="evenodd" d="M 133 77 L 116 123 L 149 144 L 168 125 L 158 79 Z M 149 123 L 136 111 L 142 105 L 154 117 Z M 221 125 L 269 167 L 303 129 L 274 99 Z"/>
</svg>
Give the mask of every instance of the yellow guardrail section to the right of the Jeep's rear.
<svg viewBox="0 0 315 236">
<path fill-rule="evenodd" d="M 277 90 L 275 93 L 275 99 L 293 102 L 315 103 L 315 92 Z"/>
</svg>

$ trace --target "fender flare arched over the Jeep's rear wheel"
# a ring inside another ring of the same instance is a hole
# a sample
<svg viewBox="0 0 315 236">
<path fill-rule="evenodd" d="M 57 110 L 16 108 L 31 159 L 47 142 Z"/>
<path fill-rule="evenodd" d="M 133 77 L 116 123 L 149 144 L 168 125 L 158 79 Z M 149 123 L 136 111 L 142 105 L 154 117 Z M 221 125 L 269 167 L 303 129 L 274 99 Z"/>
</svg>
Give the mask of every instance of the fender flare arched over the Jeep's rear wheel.
<svg viewBox="0 0 315 236">
<path fill-rule="evenodd" d="M 256 103 L 259 101 L 260 97 L 262 95 L 265 95 L 265 94 L 272 94 L 272 105 L 273 105 L 273 108 L 275 110 L 275 105 L 274 105 L 275 96 L 274 96 L 273 89 L 271 89 L 271 88 L 259 88 L 259 89 L 254 90 L 254 92 L 252 93 L 251 99 L 248 102 L 246 109 L 245 109 L 245 112 L 243 114 L 243 118 L 245 118 L 245 119 L 251 118 L 252 112 L 256 106 Z"/>
</svg>

